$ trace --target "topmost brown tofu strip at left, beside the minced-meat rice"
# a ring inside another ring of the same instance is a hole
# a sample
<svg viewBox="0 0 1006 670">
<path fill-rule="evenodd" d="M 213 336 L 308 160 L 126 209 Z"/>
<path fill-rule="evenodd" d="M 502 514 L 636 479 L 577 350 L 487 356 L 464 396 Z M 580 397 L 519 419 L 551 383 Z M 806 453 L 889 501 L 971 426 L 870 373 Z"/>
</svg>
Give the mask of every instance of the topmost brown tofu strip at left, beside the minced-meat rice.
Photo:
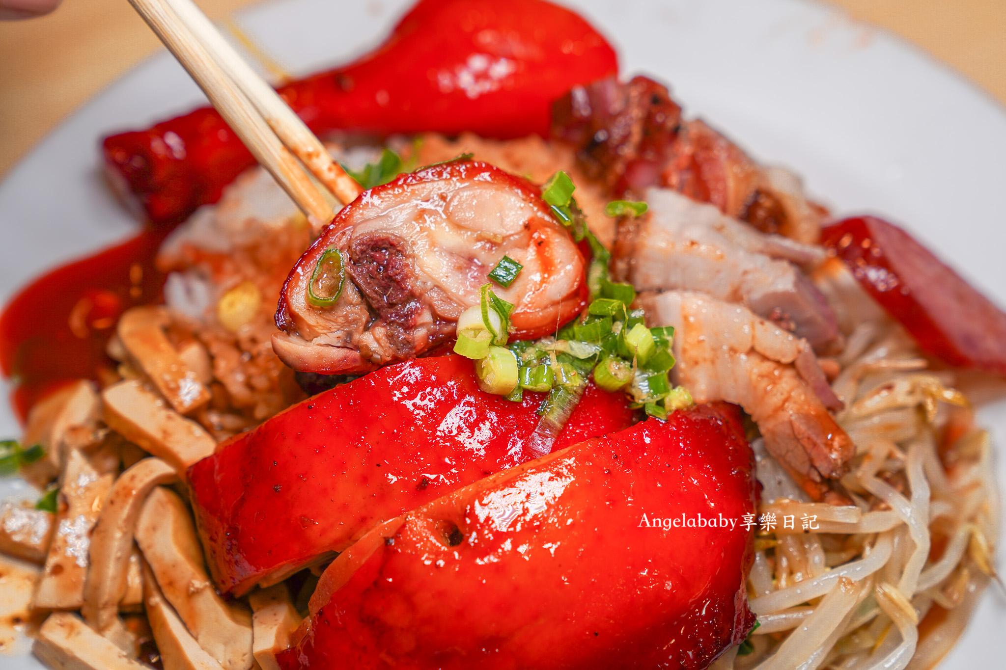
<svg viewBox="0 0 1006 670">
<path fill-rule="evenodd" d="M 209 402 L 209 391 L 199 382 L 168 341 L 164 328 L 168 310 L 160 305 L 133 307 L 117 326 L 119 342 L 147 378 L 179 414 L 188 414 Z"/>
</svg>

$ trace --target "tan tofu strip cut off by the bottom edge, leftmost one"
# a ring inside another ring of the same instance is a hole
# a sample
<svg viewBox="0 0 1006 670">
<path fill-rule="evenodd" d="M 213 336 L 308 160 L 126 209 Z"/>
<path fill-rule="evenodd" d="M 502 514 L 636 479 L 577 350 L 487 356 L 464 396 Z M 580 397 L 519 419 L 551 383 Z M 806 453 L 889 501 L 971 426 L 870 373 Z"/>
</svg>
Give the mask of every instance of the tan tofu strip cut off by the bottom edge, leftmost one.
<svg viewBox="0 0 1006 670">
<path fill-rule="evenodd" d="M 53 670 L 149 670 L 67 612 L 49 615 L 32 651 Z"/>
</svg>

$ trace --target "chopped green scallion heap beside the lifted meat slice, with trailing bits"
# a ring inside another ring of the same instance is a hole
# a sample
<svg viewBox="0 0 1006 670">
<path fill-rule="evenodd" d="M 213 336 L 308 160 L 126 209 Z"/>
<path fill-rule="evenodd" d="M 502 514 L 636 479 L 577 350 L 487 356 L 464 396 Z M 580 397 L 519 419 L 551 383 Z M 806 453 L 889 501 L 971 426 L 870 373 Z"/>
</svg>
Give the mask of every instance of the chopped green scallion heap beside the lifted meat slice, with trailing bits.
<svg viewBox="0 0 1006 670">
<path fill-rule="evenodd" d="M 541 197 L 573 239 L 585 239 L 591 247 L 594 258 L 588 269 L 591 292 L 588 307 L 554 337 L 510 344 L 512 359 L 505 358 L 492 352 L 500 346 L 497 339 L 500 329 L 506 332 L 513 305 L 497 298 L 489 290 L 490 284 L 486 284 L 482 287 L 480 304 L 459 320 L 459 344 L 455 346 L 455 351 L 471 350 L 475 356 L 470 358 L 480 359 L 477 364 L 480 385 L 490 380 L 484 388 L 495 388 L 499 395 L 515 402 L 524 399 L 524 391 L 548 393 L 538 410 L 541 422 L 535 438 L 530 440 L 531 451 L 539 455 L 548 452 L 592 375 L 600 388 L 625 391 L 632 396 L 633 407 L 660 419 L 692 402 L 685 389 L 671 388 L 668 380 L 668 371 L 675 363 L 671 353 L 674 328 L 648 328 L 643 310 L 632 308 L 636 289 L 632 284 L 612 281 L 608 269 L 611 253 L 588 228 L 583 213 L 572 197 L 574 190 L 569 176 L 558 172 L 545 184 Z M 607 209 L 611 216 L 638 216 L 646 212 L 646 203 L 615 201 Z M 489 274 L 490 279 L 502 286 L 509 286 L 516 276 L 507 267 L 507 261 L 519 271 L 520 264 L 504 256 Z M 500 325 L 496 316 L 500 317 Z M 478 347 L 469 342 L 475 330 L 485 333 Z M 505 338 L 502 342 L 506 342 Z M 509 380 L 514 372 L 517 383 L 511 388 Z"/>
</svg>

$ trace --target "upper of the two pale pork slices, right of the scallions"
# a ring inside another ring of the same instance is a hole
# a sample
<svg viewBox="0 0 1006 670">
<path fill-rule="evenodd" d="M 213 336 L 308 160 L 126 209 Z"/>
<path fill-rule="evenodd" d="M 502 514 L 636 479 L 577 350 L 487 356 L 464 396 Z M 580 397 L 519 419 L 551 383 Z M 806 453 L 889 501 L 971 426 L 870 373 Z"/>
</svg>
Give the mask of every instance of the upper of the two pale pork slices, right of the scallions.
<svg viewBox="0 0 1006 670">
<path fill-rule="evenodd" d="M 770 255 L 820 260 L 814 247 L 759 233 L 667 189 L 647 191 L 649 213 L 619 230 L 615 267 L 637 290 L 700 290 L 806 339 L 821 351 L 838 336 L 835 314 L 808 277 Z"/>
</svg>

